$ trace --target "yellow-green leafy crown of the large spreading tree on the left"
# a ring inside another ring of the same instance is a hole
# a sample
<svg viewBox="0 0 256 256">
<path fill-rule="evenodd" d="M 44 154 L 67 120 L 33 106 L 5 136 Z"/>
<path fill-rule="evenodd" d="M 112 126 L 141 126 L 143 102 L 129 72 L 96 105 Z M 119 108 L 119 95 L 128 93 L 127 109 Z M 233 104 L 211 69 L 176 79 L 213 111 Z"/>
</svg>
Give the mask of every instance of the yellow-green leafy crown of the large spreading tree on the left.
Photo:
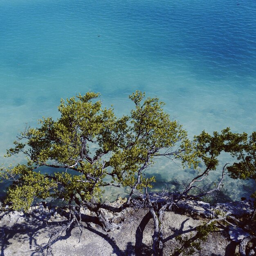
<svg viewBox="0 0 256 256">
<path fill-rule="evenodd" d="M 82 204 L 99 198 L 105 186 L 128 186 L 131 197 L 136 189 L 152 187 L 155 178 L 144 174 L 162 155 L 196 167 L 194 142 L 164 112 L 164 103 L 140 91 L 129 98 L 135 108 L 121 118 L 102 108 L 98 93 L 61 99 L 60 118 L 43 117 L 38 128 L 21 132 L 7 156 L 22 153 L 27 166 L 7 168 L 2 177 L 14 181 L 7 195 L 13 209 L 28 209 L 34 198 L 47 196 Z M 54 167 L 55 173 L 40 174 L 39 166 Z"/>
</svg>

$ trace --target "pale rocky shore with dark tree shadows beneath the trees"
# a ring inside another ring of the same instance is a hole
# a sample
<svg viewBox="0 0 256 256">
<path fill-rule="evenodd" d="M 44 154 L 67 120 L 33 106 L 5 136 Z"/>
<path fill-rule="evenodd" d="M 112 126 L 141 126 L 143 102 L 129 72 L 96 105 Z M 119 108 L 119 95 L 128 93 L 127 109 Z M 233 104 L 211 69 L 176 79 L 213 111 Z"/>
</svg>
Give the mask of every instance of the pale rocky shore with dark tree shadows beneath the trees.
<svg viewBox="0 0 256 256">
<path fill-rule="evenodd" d="M 122 202 L 107 203 L 118 206 Z M 207 240 L 202 241 L 202 249 L 193 255 L 236 255 L 240 242 L 252 234 L 250 234 L 249 227 L 240 228 L 232 224 L 232 218 L 244 221 L 252 211 L 253 201 L 251 199 L 215 205 L 192 200 L 180 202 L 173 211 L 166 211 L 164 214 L 162 223 L 164 255 L 170 256 L 175 252 L 175 255 L 182 255 L 177 254 L 180 243 L 175 237 L 193 236 L 198 225 L 222 213 L 229 216 L 230 225 L 223 226 L 219 231 L 211 232 Z M 81 213 L 85 220 L 81 222 L 82 233 L 76 225 L 71 226 L 52 245 L 54 256 L 146 256 L 152 254 L 154 225 L 148 209 L 126 209 L 115 215 L 106 212 L 108 218 L 121 224 L 120 229 L 112 232 L 103 231 L 94 213 L 88 209 L 83 209 Z M 31 211 L 26 214 L 22 211 L 8 211 L 8 209 L 1 211 L 1 256 L 44 255 L 44 246 L 49 240 L 49 234 L 61 227 L 62 223 L 67 222 L 68 214 L 65 208 L 51 207 L 43 203 L 31 207 Z M 251 243 L 250 249 L 247 249 L 247 255 L 255 254 L 256 244 Z"/>
</svg>

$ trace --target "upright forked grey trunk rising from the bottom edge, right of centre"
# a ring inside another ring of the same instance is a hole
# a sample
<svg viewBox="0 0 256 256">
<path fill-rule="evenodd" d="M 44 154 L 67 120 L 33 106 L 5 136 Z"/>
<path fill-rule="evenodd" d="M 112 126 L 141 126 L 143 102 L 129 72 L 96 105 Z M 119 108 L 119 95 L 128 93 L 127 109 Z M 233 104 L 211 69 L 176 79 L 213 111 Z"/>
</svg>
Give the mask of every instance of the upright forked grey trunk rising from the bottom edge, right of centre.
<svg viewBox="0 0 256 256">
<path fill-rule="evenodd" d="M 150 213 L 154 220 L 154 235 L 153 235 L 153 256 L 163 256 L 163 225 L 162 219 L 166 206 L 162 207 L 158 213 L 154 209 L 150 209 Z"/>
</svg>

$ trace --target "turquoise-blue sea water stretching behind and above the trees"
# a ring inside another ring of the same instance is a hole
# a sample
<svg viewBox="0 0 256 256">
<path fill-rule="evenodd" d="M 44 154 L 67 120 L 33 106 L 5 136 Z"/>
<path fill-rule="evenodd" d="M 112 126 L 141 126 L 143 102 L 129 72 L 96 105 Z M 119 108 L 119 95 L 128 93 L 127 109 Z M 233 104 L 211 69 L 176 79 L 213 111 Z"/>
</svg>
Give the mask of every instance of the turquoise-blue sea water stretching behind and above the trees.
<svg viewBox="0 0 256 256">
<path fill-rule="evenodd" d="M 191 137 L 252 132 L 255 24 L 255 0 L 0 0 L 0 162 L 26 123 L 58 117 L 60 98 L 88 90 L 118 115 L 135 90 L 157 96 Z M 176 169 L 159 164 L 158 187 L 189 173 Z"/>
</svg>

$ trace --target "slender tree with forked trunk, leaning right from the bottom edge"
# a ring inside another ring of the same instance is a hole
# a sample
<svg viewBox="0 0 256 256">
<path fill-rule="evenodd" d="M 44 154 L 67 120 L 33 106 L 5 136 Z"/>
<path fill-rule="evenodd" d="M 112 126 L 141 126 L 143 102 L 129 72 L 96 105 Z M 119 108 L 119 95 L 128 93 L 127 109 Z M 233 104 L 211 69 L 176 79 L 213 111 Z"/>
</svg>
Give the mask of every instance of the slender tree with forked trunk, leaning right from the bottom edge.
<svg viewBox="0 0 256 256">
<path fill-rule="evenodd" d="M 222 131 L 222 133 L 224 130 Z M 154 198 L 152 203 L 150 195 L 146 192 L 146 204 L 150 209 L 150 213 L 154 221 L 154 235 L 153 235 L 153 255 L 163 255 L 163 233 L 162 233 L 162 220 L 166 209 L 179 206 L 182 200 L 200 199 L 205 196 L 216 197 L 216 193 L 220 190 L 220 186 L 225 177 L 226 166 L 222 166 L 222 175 L 216 184 L 212 187 L 202 186 L 202 181 L 209 175 L 211 171 L 215 171 L 219 167 L 218 157 L 225 149 L 225 137 L 218 132 L 213 132 L 213 136 L 203 131 L 200 135 L 195 136 L 191 145 L 193 145 L 193 156 L 200 160 L 204 165 L 199 168 L 197 165 L 193 168 L 197 171 L 197 175 L 188 183 L 184 184 L 184 190 L 179 194 L 172 194 L 172 196 L 161 198 L 157 200 Z M 161 194 L 160 194 L 161 195 Z"/>
</svg>

